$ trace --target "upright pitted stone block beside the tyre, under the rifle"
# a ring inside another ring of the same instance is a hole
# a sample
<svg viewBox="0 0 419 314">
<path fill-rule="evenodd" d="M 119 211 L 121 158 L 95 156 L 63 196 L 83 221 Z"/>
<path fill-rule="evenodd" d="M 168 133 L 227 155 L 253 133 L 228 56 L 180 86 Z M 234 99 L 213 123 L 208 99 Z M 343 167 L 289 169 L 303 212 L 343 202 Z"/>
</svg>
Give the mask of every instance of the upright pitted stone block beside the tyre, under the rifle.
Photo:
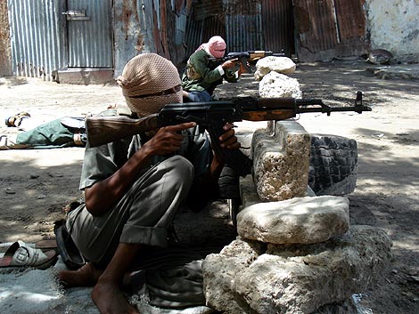
<svg viewBox="0 0 419 314">
<path fill-rule="evenodd" d="M 253 134 L 253 181 L 262 201 L 304 197 L 308 186 L 310 135 L 297 122 L 279 121 Z"/>
</svg>

